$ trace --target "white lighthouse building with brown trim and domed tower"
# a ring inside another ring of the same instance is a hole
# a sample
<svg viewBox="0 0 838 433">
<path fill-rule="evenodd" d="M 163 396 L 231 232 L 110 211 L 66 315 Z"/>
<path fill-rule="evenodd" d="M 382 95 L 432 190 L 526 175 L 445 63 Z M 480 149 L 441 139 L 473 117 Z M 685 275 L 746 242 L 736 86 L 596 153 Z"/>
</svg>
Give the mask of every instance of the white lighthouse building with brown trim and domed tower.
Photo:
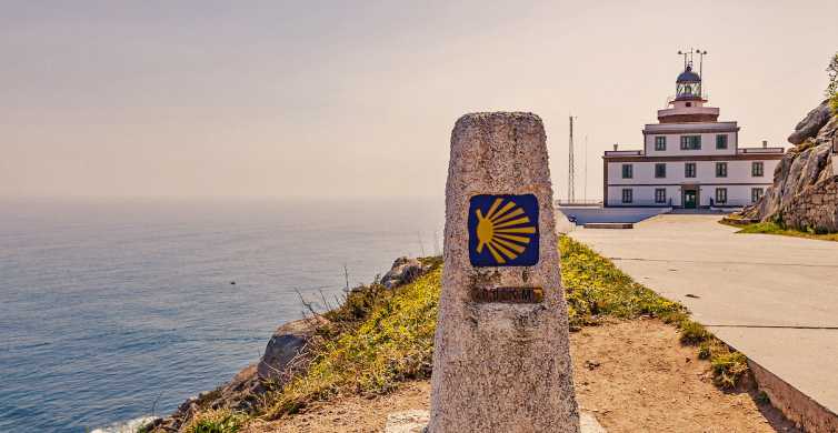
<svg viewBox="0 0 838 433">
<path fill-rule="evenodd" d="M 606 207 L 726 208 L 759 200 L 782 148 L 744 148 L 735 121 L 706 105 L 701 77 L 685 61 L 676 95 L 644 127 L 642 150 L 605 152 Z"/>
</svg>

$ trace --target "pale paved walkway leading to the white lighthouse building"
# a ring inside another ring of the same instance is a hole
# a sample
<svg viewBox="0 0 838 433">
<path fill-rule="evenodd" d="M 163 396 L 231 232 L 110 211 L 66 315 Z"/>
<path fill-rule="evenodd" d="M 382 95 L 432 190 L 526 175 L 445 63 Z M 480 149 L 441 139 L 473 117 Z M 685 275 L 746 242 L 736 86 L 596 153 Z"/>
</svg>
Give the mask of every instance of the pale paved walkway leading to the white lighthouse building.
<svg viewBox="0 0 838 433">
<path fill-rule="evenodd" d="M 838 242 L 735 234 L 718 219 L 660 215 L 571 236 L 838 413 Z"/>
</svg>

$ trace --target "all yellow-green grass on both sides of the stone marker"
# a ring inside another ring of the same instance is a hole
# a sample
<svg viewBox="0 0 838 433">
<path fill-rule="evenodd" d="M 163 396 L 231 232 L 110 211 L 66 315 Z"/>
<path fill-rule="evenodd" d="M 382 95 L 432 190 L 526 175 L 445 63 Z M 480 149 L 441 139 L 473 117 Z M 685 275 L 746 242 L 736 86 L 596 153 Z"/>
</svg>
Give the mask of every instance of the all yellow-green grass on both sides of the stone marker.
<svg viewBox="0 0 838 433">
<path fill-rule="evenodd" d="M 699 356 L 710 360 L 720 386 L 736 386 L 747 371 L 745 358 L 692 322 L 681 304 L 638 284 L 609 260 L 568 236 L 560 239 L 559 246 L 571 328 L 613 319 L 658 318 L 680 330 L 682 343 L 698 345 Z M 402 381 L 430 377 L 441 260 L 426 259 L 426 264 L 431 270 L 412 283 L 395 290 L 379 284 L 358 288 L 343 305 L 326 313 L 332 324 L 316 340 L 306 373 L 269 391 L 259 413 L 252 415 L 278 419 L 339 394 L 382 394 Z M 235 432 L 232 427 L 218 430 L 225 420 L 233 420 L 226 417 L 233 414 L 210 411 L 210 415 L 196 417 L 189 425 L 192 430 L 186 431 Z M 238 425 L 236 422 L 228 424 Z"/>
</svg>

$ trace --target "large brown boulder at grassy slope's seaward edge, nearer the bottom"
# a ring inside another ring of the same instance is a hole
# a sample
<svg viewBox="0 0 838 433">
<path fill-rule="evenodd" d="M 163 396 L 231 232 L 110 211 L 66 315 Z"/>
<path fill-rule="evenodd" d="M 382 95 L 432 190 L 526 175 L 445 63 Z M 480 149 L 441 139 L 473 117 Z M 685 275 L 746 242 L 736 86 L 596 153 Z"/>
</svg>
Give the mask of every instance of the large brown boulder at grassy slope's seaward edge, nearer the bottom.
<svg viewBox="0 0 838 433">
<path fill-rule="evenodd" d="M 273 332 L 265 354 L 259 360 L 257 374 L 263 381 L 285 382 L 295 371 L 295 364 L 302 361 L 306 345 L 317 333 L 317 329 L 329 323 L 322 316 L 288 322 Z"/>
</svg>

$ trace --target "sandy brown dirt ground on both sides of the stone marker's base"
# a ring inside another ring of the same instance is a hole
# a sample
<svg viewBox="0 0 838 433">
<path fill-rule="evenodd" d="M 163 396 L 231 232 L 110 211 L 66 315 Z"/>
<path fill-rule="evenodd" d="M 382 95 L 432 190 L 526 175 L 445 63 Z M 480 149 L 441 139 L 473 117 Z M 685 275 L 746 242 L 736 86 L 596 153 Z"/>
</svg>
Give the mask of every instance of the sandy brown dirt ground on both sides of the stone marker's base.
<svg viewBox="0 0 838 433">
<path fill-rule="evenodd" d="M 657 320 L 585 328 L 570 339 L 579 404 L 609 433 L 798 432 L 752 395 L 719 391 L 709 363 Z M 389 395 L 342 397 L 243 432 L 380 432 L 388 413 L 427 409 L 429 394 L 428 382 L 412 382 Z"/>
</svg>

